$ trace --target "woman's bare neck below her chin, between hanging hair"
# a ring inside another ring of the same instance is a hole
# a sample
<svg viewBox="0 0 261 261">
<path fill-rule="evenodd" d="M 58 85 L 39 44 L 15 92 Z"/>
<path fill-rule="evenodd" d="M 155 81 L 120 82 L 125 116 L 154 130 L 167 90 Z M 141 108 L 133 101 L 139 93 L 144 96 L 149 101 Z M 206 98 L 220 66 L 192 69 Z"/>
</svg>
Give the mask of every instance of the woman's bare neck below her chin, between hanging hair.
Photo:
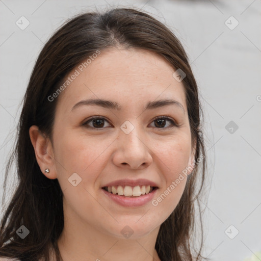
<svg viewBox="0 0 261 261">
<path fill-rule="evenodd" d="M 58 240 L 63 261 L 160 261 L 155 250 L 159 227 L 137 239 L 116 238 L 88 224 L 65 219 Z"/>
</svg>

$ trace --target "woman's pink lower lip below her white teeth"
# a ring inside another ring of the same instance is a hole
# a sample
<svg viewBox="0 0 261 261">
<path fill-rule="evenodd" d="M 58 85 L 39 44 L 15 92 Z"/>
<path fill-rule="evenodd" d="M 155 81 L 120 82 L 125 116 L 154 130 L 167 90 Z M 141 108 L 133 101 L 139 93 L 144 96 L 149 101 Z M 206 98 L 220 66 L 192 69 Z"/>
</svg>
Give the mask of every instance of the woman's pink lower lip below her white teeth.
<svg viewBox="0 0 261 261">
<path fill-rule="evenodd" d="M 152 190 L 150 193 L 139 196 L 139 197 L 126 197 L 126 196 L 120 196 L 118 194 L 112 194 L 106 190 L 101 189 L 105 195 L 107 195 L 111 200 L 118 203 L 121 206 L 142 206 L 147 204 L 152 200 L 154 197 L 156 191 L 158 189 Z"/>
</svg>

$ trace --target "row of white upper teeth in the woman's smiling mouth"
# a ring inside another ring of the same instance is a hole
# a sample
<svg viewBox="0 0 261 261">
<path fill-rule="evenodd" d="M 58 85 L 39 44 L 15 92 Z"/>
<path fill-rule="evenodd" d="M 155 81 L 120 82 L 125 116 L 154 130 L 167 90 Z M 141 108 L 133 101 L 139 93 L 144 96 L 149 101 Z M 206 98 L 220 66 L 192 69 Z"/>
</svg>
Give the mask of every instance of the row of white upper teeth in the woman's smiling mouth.
<svg viewBox="0 0 261 261">
<path fill-rule="evenodd" d="M 152 187 L 150 187 L 149 185 L 145 186 L 135 186 L 135 187 L 131 187 L 131 186 L 112 186 L 112 187 L 108 187 L 108 192 L 113 193 L 113 194 L 118 194 L 120 196 L 134 196 L 134 197 L 139 197 L 141 195 L 145 195 L 148 194 L 149 192 L 151 192 L 153 190 Z"/>
</svg>

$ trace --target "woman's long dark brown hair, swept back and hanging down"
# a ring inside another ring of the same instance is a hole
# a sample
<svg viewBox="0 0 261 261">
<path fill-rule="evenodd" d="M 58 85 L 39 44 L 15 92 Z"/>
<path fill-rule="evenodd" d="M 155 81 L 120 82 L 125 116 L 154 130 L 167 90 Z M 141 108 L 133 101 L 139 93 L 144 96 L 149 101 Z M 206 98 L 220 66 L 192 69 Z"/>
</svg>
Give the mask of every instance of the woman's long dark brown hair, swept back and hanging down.
<svg viewBox="0 0 261 261">
<path fill-rule="evenodd" d="M 162 261 L 200 260 L 203 245 L 200 208 L 199 249 L 194 249 L 191 237 L 196 228 L 195 203 L 204 187 L 206 171 L 198 87 L 187 54 L 176 36 L 163 23 L 135 8 L 114 8 L 103 13 L 77 15 L 62 25 L 44 45 L 23 98 L 16 146 L 6 168 L 4 187 L 14 161 L 18 186 L 1 221 L 0 256 L 16 257 L 23 261 L 39 258 L 49 261 L 49 251 L 54 249 L 57 260 L 60 260 L 57 241 L 64 225 L 63 194 L 57 179 L 48 179 L 42 174 L 31 144 L 29 128 L 37 125 L 52 141 L 58 99 L 50 102 L 47 97 L 58 89 L 75 66 L 97 49 L 106 51 L 116 45 L 153 51 L 175 70 L 180 68 L 186 73 L 182 84 L 186 90 L 191 137 L 196 142 L 195 160 L 200 156 L 202 159 L 202 155 L 203 159 L 188 176 L 175 210 L 161 225 L 155 249 Z M 30 228 L 29 236 L 24 239 L 16 233 L 21 225 Z"/>
</svg>

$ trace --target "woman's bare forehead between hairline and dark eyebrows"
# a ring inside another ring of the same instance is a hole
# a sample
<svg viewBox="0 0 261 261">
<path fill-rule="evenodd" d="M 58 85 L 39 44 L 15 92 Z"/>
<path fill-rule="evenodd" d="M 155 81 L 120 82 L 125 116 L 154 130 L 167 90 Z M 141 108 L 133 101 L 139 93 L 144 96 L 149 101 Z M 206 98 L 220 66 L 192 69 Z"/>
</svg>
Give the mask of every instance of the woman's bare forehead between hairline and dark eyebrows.
<svg viewBox="0 0 261 261">
<path fill-rule="evenodd" d="M 95 57 L 88 63 L 84 59 L 68 73 L 67 77 L 77 76 L 60 94 L 58 107 L 71 109 L 87 98 L 114 100 L 121 107 L 172 98 L 187 111 L 185 88 L 173 78 L 175 69 L 161 56 L 143 49 L 112 48 Z"/>
</svg>

